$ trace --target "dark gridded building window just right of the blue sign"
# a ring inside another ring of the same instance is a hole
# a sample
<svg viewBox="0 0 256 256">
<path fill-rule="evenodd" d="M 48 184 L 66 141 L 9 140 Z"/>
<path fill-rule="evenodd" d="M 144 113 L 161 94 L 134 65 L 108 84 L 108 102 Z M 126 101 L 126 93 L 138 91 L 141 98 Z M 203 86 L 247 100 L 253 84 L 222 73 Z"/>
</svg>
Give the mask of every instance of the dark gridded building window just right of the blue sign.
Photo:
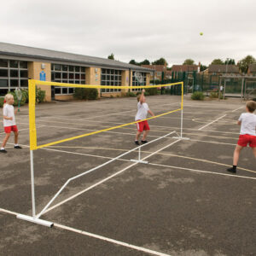
<svg viewBox="0 0 256 256">
<path fill-rule="evenodd" d="M 67 84 L 85 84 L 85 67 L 51 64 L 51 81 Z M 55 86 L 55 95 L 71 95 L 74 88 Z"/>
</svg>

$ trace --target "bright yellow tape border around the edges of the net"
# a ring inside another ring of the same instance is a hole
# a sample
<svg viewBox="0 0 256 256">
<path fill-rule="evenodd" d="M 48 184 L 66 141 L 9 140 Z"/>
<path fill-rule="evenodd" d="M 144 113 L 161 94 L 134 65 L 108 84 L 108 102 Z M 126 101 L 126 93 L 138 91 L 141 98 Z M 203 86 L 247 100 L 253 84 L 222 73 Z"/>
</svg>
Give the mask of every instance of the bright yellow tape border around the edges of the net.
<svg viewBox="0 0 256 256">
<path fill-rule="evenodd" d="M 137 123 L 145 121 L 145 120 L 155 119 L 160 116 L 164 116 L 168 113 L 174 113 L 174 112 L 177 112 L 177 111 L 180 111 L 183 109 L 183 82 L 178 82 L 178 83 L 173 83 L 173 84 L 146 85 L 146 86 L 112 86 L 112 85 L 108 86 L 108 85 L 91 85 L 91 84 L 62 84 L 62 83 L 45 82 L 45 81 L 31 79 L 31 80 L 29 80 L 28 84 L 29 84 L 29 125 L 30 125 L 29 130 L 30 130 L 30 149 L 31 150 L 36 150 L 38 148 L 45 148 L 45 147 L 49 147 L 49 146 L 59 144 L 59 143 L 65 143 L 65 142 L 72 141 L 74 139 L 78 139 L 81 137 L 87 137 L 87 136 L 101 133 L 104 131 L 111 131 L 111 130 L 114 130 L 117 128 L 125 127 L 127 125 L 137 124 Z M 76 137 L 69 137 L 67 139 L 59 140 L 59 141 L 56 141 L 53 143 L 46 143 L 44 145 L 38 146 L 37 145 L 36 123 L 35 123 L 36 84 L 49 85 L 49 86 L 55 85 L 55 86 L 61 86 L 61 87 L 76 87 L 76 88 L 96 88 L 96 89 L 137 89 L 137 88 L 138 89 L 142 89 L 142 88 L 147 89 L 147 88 L 160 88 L 160 87 L 182 84 L 182 102 L 181 102 L 181 108 L 178 108 L 178 109 L 166 112 L 166 113 L 160 113 L 160 114 L 150 117 L 148 119 L 131 122 L 131 123 L 124 124 L 124 125 L 117 125 L 117 126 L 109 127 L 107 129 L 103 129 L 100 131 L 92 131 L 92 132 L 84 133 L 84 134 L 76 136 Z"/>
</svg>

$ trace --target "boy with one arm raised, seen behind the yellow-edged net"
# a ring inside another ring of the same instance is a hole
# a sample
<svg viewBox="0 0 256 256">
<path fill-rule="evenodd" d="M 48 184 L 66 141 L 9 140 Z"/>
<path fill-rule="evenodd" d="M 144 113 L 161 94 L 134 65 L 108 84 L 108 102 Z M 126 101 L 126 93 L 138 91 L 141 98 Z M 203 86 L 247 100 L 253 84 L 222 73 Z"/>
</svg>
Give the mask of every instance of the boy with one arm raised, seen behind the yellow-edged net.
<svg viewBox="0 0 256 256">
<path fill-rule="evenodd" d="M 145 90 L 143 89 L 143 92 L 141 95 L 137 96 L 137 114 L 135 117 L 135 120 L 143 120 L 147 118 L 147 114 L 150 113 L 152 116 L 154 116 L 154 113 L 148 108 L 148 104 L 146 103 L 146 98 L 144 96 L 144 92 Z M 148 121 L 142 121 L 136 124 L 137 125 L 137 134 L 136 134 L 136 138 L 135 138 L 135 144 L 139 145 L 140 143 L 138 142 L 139 137 L 141 136 L 142 132 L 143 132 L 143 139 L 142 139 L 142 143 L 148 143 L 146 141 L 146 137 L 148 135 L 148 132 L 150 130 L 149 125 L 148 125 Z"/>
</svg>

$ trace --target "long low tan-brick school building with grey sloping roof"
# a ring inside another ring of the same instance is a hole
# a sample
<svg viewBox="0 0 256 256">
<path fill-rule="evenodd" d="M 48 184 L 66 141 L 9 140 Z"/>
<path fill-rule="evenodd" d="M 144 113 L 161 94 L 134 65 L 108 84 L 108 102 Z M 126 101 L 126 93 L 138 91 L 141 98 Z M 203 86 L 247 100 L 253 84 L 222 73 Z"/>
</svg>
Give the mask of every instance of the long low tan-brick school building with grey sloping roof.
<svg viewBox="0 0 256 256">
<path fill-rule="evenodd" d="M 27 89 L 28 79 L 68 84 L 149 85 L 150 69 L 88 55 L 0 43 L 0 96 L 16 87 Z M 136 74 L 140 75 L 137 81 Z M 143 77 L 143 79 L 142 79 Z M 39 86 L 47 102 L 73 99 L 73 88 Z M 102 89 L 99 96 L 123 96 L 128 90 Z"/>
</svg>

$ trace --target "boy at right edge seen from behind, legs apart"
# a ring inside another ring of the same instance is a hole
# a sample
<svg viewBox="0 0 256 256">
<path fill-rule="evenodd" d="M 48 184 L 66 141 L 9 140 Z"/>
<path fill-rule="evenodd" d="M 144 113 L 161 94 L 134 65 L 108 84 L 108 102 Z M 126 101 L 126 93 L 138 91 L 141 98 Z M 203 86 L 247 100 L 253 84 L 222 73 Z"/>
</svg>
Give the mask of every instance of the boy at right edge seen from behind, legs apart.
<svg viewBox="0 0 256 256">
<path fill-rule="evenodd" d="M 253 113 L 256 109 L 256 102 L 247 102 L 247 113 L 241 113 L 237 121 L 241 125 L 240 136 L 234 151 L 233 167 L 227 169 L 228 172 L 236 173 L 236 166 L 239 160 L 241 149 L 247 147 L 247 144 L 253 149 L 256 158 L 256 115 Z"/>
</svg>

